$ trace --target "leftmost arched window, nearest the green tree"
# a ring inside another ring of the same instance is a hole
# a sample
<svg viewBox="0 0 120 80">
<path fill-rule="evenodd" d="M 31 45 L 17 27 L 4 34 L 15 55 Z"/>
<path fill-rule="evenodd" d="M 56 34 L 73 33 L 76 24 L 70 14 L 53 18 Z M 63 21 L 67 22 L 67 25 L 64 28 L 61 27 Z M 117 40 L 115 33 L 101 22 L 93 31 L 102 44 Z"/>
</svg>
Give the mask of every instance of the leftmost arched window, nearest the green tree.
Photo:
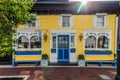
<svg viewBox="0 0 120 80">
<path fill-rule="evenodd" d="M 29 39 L 26 36 L 18 38 L 18 48 L 29 48 Z"/>
</svg>

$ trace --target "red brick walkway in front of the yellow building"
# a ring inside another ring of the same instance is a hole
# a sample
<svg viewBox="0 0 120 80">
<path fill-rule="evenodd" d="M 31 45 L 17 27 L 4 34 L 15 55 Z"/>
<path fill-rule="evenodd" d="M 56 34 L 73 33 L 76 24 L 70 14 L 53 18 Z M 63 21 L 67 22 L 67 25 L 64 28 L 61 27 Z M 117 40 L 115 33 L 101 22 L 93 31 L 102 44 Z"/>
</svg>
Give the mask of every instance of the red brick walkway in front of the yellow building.
<svg viewBox="0 0 120 80">
<path fill-rule="evenodd" d="M 23 76 L 27 80 L 114 80 L 116 68 L 16 67 L 0 68 L 0 76 Z"/>
</svg>

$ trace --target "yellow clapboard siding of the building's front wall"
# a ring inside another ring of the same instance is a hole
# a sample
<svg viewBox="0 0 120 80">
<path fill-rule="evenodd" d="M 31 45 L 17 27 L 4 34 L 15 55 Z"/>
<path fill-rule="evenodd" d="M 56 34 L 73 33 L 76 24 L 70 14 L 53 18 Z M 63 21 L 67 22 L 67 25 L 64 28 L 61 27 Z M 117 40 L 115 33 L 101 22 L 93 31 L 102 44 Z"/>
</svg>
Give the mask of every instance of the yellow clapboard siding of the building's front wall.
<svg viewBox="0 0 120 80">
<path fill-rule="evenodd" d="M 51 30 L 76 30 L 77 31 L 77 45 L 76 45 L 76 56 L 79 54 L 84 54 L 84 38 L 82 41 L 79 39 L 79 35 L 82 33 L 84 35 L 84 30 L 91 29 L 91 30 L 99 30 L 96 29 L 93 25 L 94 23 L 94 15 L 72 15 L 74 25 L 72 28 L 60 28 L 59 27 L 59 17 L 60 15 L 39 15 L 40 17 L 40 29 L 43 30 L 43 34 L 47 34 L 47 40 L 43 42 L 43 51 L 42 53 L 48 54 L 50 56 L 50 31 Z M 113 60 L 114 59 L 114 50 L 115 50 L 115 27 L 116 27 L 116 14 L 107 14 L 108 23 L 106 28 L 101 30 L 111 30 L 111 51 L 112 54 L 110 55 L 86 55 L 86 60 Z M 23 25 L 19 25 L 18 28 L 24 28 Z M 16 57 L 16 59 L 24 60 L 30 59 L 35 60 L 39 59 L 39 57 Z"/>
</svg>

